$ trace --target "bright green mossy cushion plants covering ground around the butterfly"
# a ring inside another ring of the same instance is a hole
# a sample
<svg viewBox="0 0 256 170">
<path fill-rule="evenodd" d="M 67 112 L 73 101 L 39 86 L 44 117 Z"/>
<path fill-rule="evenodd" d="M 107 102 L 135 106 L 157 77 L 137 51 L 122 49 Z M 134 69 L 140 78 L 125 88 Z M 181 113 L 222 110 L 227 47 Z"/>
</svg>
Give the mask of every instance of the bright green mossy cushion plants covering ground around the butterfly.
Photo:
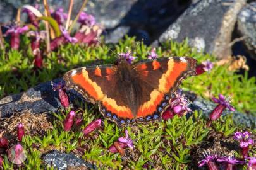
<svg viewBox="0 0 256 170">
<path fill-rule="evenodd" d="M 40 82 L 63 76 L 64 72 L 75 67 L 94 64 L 111 64 L 116 60 L 116 55 L 109 50 L 111 48 L 115 53 L 131 50 L 137 60 L 146 59 L 151 47 L 140 43 L 137 45 L 135 38 L 126 38 L 117 45 L 104 44 L 97 47 L 81 47 L 79 45 L 65 45 L 56 52 L 52 52 L 44 58 L 44 67 L 34 69 L 32 51 L 30 49 L 30 40 L 22 37 L 20 51 L 5 50 L 0 55 L 0 98 L 9 94 L 19 93 L 39 84 Z M 8 45 L 6 45 L 8 49 Z M 164 56 L 190 56 L 202 62 L 204 60 L 215 61 L 216 59 L 208 54 L 196 52 L 188 47 L 188 44 L 166 42 L 157 48 L 159 57 Z M 256 86 L 255 78 L 248 79 L 245 76 L 238 75 L 235 71 L 229 71 L 228 65 L 217 66 L 210 73 L 204 73 L 200 76 L 189 77 L 181 88 L 193 91 L 194 93 L 210 99 L 212 96 L 222 93 L 233 98 L 232 104 L 239 111 L 244 113 L 256 113 Z M 245 130 L 244 127 L 237 127 L 232 120 L 232 115 L 221 118 L 213 123 L 212 127 L 206 128 L 206 120 L 202 113 L 195 112 L 189 118 L 175 116 L 173 119 L 162 122 L 149 123 L 147 125 L 136 125 L 136 127 L 127 127 L 131 139 L 135 142 L 135 149 L 126 149 L 125 156 L 111 154 L 107 150 L 118 137 L 123 136 L 124 128 L 117 127 L 114 123 L 104 120 L 101 128 L 83 137 L 82 129 L 88 123 L 101 118 L 97 106 L 88 107 L 87 103 L 76 103 L 74 108 L 77 114 L 81 114 L 84 123 L 79 129 L 73 129 L 71 132 L 63 131 L 63 120 L 66 118 L 68 110 L 59 110 L 57 113 L 51 113 L 47 120 L 51 122 L 53 128 L 37 132 L 39 126 L 28 121 L 34 120 L 33 115 L 27 113 L 27 119 L 24 120 L 17 116 L 16 118 L 25 125 L 27 135 L 21 143 L 28 152 L 27 161 L 24 166 L 27 169 L 42 169 L 44 164 L 41 160 L 42 154 L 49 150 L 56 149 L 63 152 L 73 152 L 85 159 L 85 161 L 97 164 L 101 169 L 142 169 L 142 166 L 149 169 L 191 169 L 195 168 L 197 161 L 202 159 L 202 150 L 207 150 L 206 144 L 216 146 L 216 149 L 222 153 L 228 154 L 232 150 L 235 156 L 238 154 L 238 144 L 231 139 L 236 130 Z M 37 115 L 39 116 L 39 115 Z M 26 121 L 27 122 L 26 122 Z M 44 119 L 42 119 L 44 120 Z M 7 120 L 6 120 L 7 121 Z M 15 121 L 15 120 L 13 120 Z M 45 120 L 44 120 L 45 121 Z M 30 122 L 30 123 L 28 123 Z M 33 121 L 32 121 L 33 122 Z M 31 126 L 34 125 L 34 128 Z M 0 125 L 1 126 L 1 125 Z M 13 125 L 14 126 L 14 125 Z M 4 128 L 3 125 L 0 128 Z M 8 131 L 8 136 L 15 136 L 15 131 Z M 34 133 L 32 130 L 34 129 Z M 249 129 L 255 134 L 256 130 Z M 219 145 L 218 144 L 219 141 Z M 15 144 L 15 139 L 12 140 Z M 216 143 L 217 142 L 217 143 Z M 221 145 L 221 143 L 226 145 Z M 226 143 L 225 143 L 226 142 Z M 228 142 L 228 143 L 227 143 Z M 236 147 L 230 148 L 227 145 L 234 144 Z M 214 148 L 210 147 L 210 148 Z M 250 150 L 250 155 L 256 153 L 255 148 Z M 11 169 L 13 165 L 8 162 L 7 157 L 4 161 L 4 169 Z M 241 167 L 245 169 L 244 167 Z M 47 169 L 51 169 L 47 167 Z"/>
</svg>

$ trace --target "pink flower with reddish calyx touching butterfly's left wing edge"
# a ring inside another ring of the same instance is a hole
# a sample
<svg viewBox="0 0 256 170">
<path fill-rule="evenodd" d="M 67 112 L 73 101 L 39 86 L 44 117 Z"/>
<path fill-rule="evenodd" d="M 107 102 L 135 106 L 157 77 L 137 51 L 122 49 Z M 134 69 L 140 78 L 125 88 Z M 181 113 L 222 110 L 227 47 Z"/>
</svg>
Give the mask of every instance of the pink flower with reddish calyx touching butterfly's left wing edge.
<svg viewBox="0 0 256 170">
<path fill-rule="evenodd" d="M 66 94 L 66 86 L 65 83 L 63 81 L 59 82 L 59 83 L 53 83 L 53 90 L 59 92 L 59 100 L 61 101 L 61 105 L 64 108 L 68 108 L 68 106 L 70 105 L 69 101 L 68 101 L 68 95 Z"/>
</svg>

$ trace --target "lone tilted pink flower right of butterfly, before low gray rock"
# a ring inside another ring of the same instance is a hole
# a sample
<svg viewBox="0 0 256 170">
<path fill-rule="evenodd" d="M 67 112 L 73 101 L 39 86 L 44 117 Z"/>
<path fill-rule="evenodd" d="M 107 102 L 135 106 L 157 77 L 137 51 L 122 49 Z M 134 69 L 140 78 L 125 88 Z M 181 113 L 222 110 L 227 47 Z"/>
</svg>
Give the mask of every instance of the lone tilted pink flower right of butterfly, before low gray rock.
<svg viewBox="0 0 256 170">
<path fill-rule="evenodd" d="M 222 94 L 219 94 L 219 99 L 217 98 L 212 98 L 214 103 L 218 103 L 219 105 L 212 110 L 212 113 L 210 113 L 210 120 L 217 120 L 221 115 L 222 112 L 228 108 L 230 111 L 235 111 L 235 108 L 230 105 L 230 98 L 225 98 Z"/>
</svg>

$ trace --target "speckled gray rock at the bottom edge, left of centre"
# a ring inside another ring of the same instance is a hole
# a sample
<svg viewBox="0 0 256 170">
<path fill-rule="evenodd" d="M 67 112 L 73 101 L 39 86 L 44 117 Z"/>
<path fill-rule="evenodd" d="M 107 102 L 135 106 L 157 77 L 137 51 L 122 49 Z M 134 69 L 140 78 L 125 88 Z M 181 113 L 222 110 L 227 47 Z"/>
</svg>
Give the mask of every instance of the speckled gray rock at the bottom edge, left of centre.
<svg viewBox="0 0 256 170">
<path fill-rule="evenodd" d="M 95 165 L 83 161 L 74 154 L 65 154 L 54 150 L 42 157 L 47 166 L 53 166 L 56 169 L 64 170 L 68 167 L 87 167 L 89 169 L 97 169 Z"/>
</svg>

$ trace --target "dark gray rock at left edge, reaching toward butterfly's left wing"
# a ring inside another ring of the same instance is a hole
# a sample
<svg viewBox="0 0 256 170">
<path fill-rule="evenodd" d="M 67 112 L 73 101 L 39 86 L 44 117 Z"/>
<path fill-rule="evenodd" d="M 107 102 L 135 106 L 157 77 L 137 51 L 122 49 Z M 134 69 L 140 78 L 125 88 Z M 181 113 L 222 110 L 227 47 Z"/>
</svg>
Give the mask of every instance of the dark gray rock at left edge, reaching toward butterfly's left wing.
<svg viewBox="0 0 256 170">
<path fill-rule="evenodd" d="M 62 79 L 44 82 L 30 88 L 27 91 L 6 96 L 0 100 L 0 118 L 9 117 L 16 111 L 30 110 L 32 113 L 54 112 L 61 107 L 58 99 L 58 92 L 52 90 L 52 82 L 59 82 Z M 70 101 L 80 98 L 75 91 L 70 91 Z"/>
</svg>

